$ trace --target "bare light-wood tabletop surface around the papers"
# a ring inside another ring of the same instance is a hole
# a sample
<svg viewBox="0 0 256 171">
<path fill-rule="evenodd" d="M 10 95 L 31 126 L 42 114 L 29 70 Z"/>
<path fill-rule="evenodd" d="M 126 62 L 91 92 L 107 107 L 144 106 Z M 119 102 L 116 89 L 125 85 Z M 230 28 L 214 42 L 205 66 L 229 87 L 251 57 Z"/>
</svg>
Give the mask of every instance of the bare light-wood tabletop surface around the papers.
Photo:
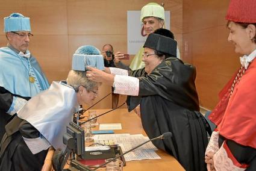
<svg viewBox="0 0 256 171">
<path fill-rule="evenodd" d="M 108 110 L 96 110 L 97 114 L 105 113 Z M 146 135 L 142 128 L 142 123 L 140 117 L 136 115 L 133 111 L 128 113 L 127 109 L 117 109 L 107 113 L 103 116 L 98 117 L 98 123 L 121 123 L 122 130 L 114 130 L 116 134 L 128 133 L 128 134 L 143 134 Z M 95 130 L 98 130 L 96 126 Z M 178 161 L 167 154 L 164 151 L 158 150 L 157 154 L 161 159 L 157 160 L 140 160 L 140 161 L 127 161 L 126 166 L 123 170 L 184 170 L 183 167 L 178 163 Z"/>
</svg>

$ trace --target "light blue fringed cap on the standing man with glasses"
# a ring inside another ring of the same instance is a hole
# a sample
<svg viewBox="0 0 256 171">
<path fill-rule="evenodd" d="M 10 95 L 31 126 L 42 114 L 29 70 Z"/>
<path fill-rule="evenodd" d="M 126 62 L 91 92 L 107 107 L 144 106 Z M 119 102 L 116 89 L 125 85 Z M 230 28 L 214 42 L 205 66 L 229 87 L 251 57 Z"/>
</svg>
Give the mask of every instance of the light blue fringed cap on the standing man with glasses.
<svg viewBox="0 0 256 171">
<path fill-rule="evenodd" d="M 12 13 L 4 17 L 4 32 L 10 31 L 31 31 L 30 18 L 20 13 Z"/>
</svg>

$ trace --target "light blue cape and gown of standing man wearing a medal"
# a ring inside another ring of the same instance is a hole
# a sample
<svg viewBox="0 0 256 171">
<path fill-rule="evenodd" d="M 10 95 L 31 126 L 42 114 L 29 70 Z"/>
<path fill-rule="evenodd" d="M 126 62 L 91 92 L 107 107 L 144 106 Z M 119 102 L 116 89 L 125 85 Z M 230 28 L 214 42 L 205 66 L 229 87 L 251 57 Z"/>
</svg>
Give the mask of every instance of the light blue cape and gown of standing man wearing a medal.
<svg viewBox="0 0 256 171">
<path fill-rule="evenodd" d="M 30 76 L 34 82 L 29 81 Z M 0 140 L 4 126 L 17 110 L 48 87 L 49 82 L 30 51 L 23 54 L 11 45 L 0 48 Z"/>
</svg>

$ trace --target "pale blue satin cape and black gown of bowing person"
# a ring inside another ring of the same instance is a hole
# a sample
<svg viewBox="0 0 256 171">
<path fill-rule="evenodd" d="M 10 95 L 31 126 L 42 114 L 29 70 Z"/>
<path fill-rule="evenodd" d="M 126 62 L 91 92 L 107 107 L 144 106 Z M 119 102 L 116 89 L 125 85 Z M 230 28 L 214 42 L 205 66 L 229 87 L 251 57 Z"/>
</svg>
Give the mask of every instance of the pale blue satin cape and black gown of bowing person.
<svg viewBox="0 0 256 171">
<path fill-rule="evenodd" d="M 63 134 L 79 107 L 75 90 L 63 82 L 31 98 L 5 126 L 0 170 L 41 170 L 49 146 L 66 148 Z"/>
</svg>

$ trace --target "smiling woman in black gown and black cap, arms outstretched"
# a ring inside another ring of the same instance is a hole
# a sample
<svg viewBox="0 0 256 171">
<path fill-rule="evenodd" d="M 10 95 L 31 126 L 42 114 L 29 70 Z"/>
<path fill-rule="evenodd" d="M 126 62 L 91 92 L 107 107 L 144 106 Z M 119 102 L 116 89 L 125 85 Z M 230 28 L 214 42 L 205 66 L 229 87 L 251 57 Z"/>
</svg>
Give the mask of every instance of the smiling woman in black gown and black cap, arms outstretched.
<svg viewBox="0 0 256 171">
<path fill-rule="evenodd" d="M 142 125 L 149 138 L 172 132 L 172 139 L 153 141 L 157 148 L 173 154 L 186 170 L 206 170 L 207 131 L 199 113 L 196 70 L 176 58 L 177 42 L 166 37 L 170 35 L 165 29 L 149 34 L 143 69 L 128 72 L 110 67 L 106 68 L 106 72 L 111 71 L 109 74 L 88 67 L 87 76 L 89 80 L 113 85 L 114 93 L 129 95 L 129 111 L 140 104 Z"/>
</svg>

